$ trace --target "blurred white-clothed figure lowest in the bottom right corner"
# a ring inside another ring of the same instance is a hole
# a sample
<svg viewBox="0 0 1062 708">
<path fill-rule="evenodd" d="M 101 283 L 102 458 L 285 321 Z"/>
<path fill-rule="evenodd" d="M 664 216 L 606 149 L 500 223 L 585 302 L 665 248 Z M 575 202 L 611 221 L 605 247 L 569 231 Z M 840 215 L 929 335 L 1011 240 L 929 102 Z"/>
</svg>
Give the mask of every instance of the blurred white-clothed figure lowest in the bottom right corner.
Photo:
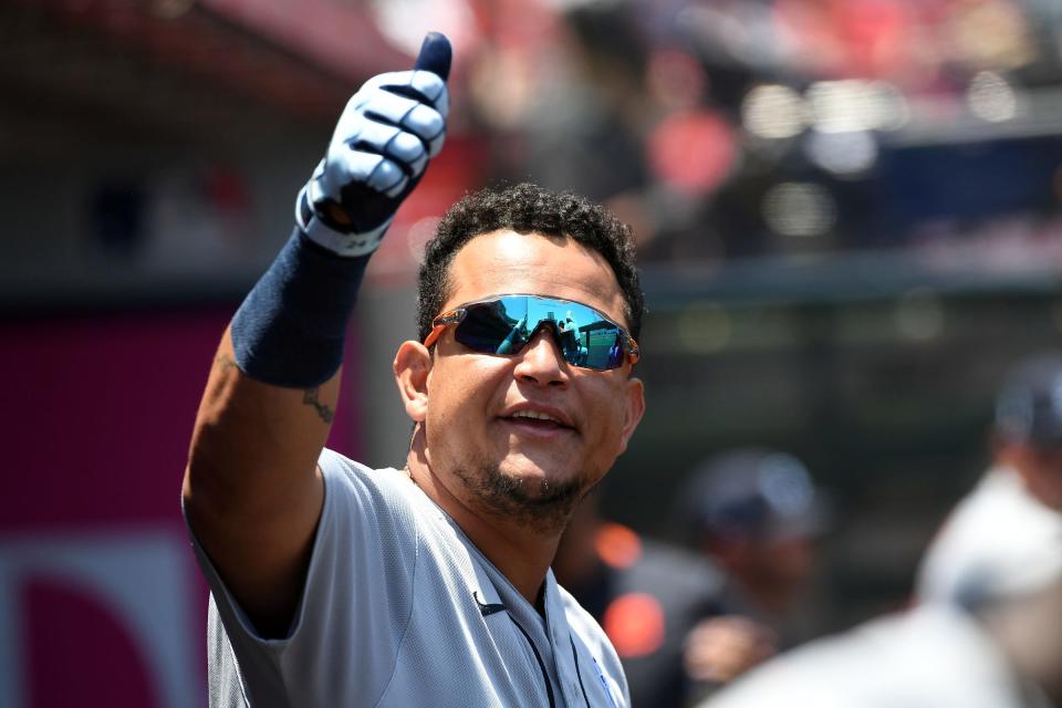
<svg viewBox="0 0 1062 708">
<path fill-rule="evenodd" d="M 920 605 L 769 662 L 701 708 L 1050 708 L 1062 698 L 1059 617 L 1058 581 L 981 615 Z M 1033 671 L 1054 673 L 1054 704 Z"/>
</svg>

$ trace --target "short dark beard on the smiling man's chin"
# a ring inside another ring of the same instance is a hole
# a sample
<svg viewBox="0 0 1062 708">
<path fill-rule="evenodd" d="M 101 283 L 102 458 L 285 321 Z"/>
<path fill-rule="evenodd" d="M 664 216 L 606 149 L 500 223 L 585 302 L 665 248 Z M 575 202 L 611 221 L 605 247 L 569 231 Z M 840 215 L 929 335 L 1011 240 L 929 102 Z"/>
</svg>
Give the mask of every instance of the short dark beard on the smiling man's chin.
<svg viewBox="0 0 1062 708">
<path fill-rule="evenodd" d="M 540 533 L 561 533 L 576 504 L 594 487 L 587 488 L 582 475 L 561 483 L 530 481 L 502 475 L 497 465 L 488 462 L 455 473 L 483 507 Z"/>
</svg>

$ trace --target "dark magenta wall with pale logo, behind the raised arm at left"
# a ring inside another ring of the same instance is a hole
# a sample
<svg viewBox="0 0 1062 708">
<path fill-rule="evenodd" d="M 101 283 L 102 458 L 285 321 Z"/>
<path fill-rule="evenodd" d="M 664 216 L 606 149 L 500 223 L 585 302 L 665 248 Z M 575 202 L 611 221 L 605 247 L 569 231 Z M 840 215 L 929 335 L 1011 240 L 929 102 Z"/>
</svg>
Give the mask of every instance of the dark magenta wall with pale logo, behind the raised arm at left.
<svg viewBox="0 0 1062 708">
<path fill-rule="evenodd" d="M 230 313 L 0 323 L 0 705 L 205 705 L 179 489 Z M 330 445 L 357 427 L 344 396 Z"/>
</svg>

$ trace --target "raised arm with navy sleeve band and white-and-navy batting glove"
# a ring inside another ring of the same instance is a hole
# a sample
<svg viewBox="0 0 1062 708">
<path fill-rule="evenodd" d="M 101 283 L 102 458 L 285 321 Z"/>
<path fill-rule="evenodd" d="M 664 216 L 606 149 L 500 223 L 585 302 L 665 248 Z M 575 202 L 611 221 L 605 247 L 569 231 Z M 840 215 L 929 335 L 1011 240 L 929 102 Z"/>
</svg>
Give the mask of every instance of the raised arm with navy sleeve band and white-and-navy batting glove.
<svg viewBox="0 0 1062 708">
<path fill-rule="evenodd" d="M 184 506 L 199 544 L 264 636 L 296 607 L 324 496 L 316 460 L 346 322 L 369 256 L 442 146 L 450 45 L 354 94 L 295 204 L 296 228 L 218 348 L 196 417 Z"/>
</svg>

